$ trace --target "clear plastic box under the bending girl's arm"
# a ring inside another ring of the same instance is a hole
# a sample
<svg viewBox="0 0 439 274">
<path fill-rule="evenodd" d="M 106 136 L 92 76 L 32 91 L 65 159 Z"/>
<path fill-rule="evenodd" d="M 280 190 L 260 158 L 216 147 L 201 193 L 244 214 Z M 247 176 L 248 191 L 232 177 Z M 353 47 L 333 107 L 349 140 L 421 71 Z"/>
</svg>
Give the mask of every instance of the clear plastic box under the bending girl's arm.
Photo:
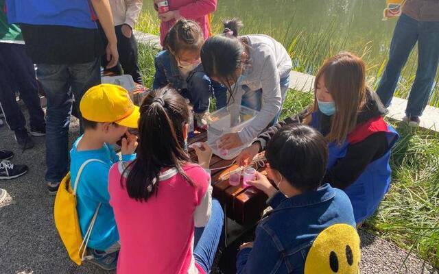
<svg viewBox="0 0 439 274">
<path fill-rule="evenodd" d="M 213 153 L 225 160 L 235 158 L 239 153 L 251 145 L 252 141 L 235 149 L 219 149 L 219 138 L 224 134 L 240 132 L 248 125 L 259 112 L 246 108 L 243 105 L 230 105 L 210 114 L 209 128 L 207 129 L 207 143 Z"/>
</svg>

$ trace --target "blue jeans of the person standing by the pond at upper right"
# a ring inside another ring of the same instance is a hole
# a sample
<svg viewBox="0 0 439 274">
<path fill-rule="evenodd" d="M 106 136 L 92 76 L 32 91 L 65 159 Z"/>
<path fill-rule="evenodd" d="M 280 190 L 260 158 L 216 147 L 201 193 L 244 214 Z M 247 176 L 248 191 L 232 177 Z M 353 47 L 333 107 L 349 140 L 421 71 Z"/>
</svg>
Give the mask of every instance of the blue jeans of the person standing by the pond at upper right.
<svg viewBox="0 0 439 274">
<path fill-rule="evenodd" d="M 401 70 L 418 42 L 418 70 L 410 90 L 405 114 L 422 115 L 428 103 L 439 62 L 439 22 L 416 21 L 402 14 L 396 23 L 389 61 L 377 88 L 381 101 L 388 107 L 392 101 Z"/>
</svg>

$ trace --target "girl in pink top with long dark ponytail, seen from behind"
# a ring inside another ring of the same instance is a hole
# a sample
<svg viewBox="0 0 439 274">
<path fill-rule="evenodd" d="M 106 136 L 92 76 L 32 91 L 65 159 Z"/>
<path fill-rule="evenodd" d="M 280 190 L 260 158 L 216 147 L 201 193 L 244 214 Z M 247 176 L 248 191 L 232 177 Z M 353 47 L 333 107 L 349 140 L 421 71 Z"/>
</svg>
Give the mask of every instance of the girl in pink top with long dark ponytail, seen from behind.
<svg viewBox="0 0 439 274">
<path fill-rule="evenodd" d="M 121 250 L 117 273 L 209 273 L 224 214 L 212 201 L 211 149 L 185 150 L 189 108 L 171 88 L 143 100 L 137 158 L 110 169 Z M 195 236 L 194 236 L 195 234 Z"/>
</svg>

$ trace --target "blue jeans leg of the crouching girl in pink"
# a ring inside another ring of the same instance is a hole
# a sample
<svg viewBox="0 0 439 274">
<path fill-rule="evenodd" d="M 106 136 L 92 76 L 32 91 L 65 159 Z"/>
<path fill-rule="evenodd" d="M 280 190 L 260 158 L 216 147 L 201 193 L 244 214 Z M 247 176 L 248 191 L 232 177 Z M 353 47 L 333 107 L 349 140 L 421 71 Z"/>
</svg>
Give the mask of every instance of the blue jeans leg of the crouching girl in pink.
<svg viewBox="0 0 439 274">
<path fill-rule="evenodd" d="M 195 227 L 193 257 L 195 262 L 210 273 L 218 245 L 222 242 L 224 212 L 217 199 L 212 199 L 211 218 L 205 227 Z"/>
</svg>

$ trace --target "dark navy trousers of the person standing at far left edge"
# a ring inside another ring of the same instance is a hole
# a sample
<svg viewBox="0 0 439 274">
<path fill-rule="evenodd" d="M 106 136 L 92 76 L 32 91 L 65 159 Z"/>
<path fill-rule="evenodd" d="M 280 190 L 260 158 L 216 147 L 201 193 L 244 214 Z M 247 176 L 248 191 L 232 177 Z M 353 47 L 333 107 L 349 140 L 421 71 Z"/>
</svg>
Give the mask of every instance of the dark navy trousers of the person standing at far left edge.
<svg viewBox="0 0 439 274">
<path fill-rule="evenodd" d="M 25 45 L 0 43 L 0 105 L 10 129 L 24 129 L 25 116 L 16 102 L 19 91 L 30 116 L 30 127 L 45 126 L 44 112 L 38 95 L 34 64 Z"/>
</svg>

